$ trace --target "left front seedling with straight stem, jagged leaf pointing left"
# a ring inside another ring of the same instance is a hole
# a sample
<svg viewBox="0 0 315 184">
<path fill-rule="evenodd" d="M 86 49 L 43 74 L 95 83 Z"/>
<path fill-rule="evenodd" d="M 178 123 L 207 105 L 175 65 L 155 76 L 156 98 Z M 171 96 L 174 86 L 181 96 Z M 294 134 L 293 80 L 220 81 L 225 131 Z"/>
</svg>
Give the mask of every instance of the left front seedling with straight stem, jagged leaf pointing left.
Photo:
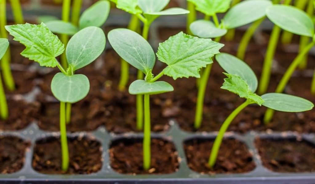
<svg viewBox="0 0 315 184">
<path fill-rule="evenodd" d="M 66 47 L 68 68 L 65 70 L 56 57 L 64 52 L 64 44 L 41 25 L 10 25 L 7 31 L 14 40 L 26 46 L 22 56 L 38 62 L 41 66 L 58 67 L 57 73 L 51 81 L 51 91 L 60 101 L 60 139 L 62 151 L 62 170 L 68 170 L 69 153 L 66 135 L 66 105 L 82 100 L 89 93 L 89 79 L 74 72 L 92 63 L 104 51 L 106 38 L 102 29 L 90 26 L 77 32 L 70 39 Z M 27 30 L 27 31 L 26 31 Z"/>
</svg>

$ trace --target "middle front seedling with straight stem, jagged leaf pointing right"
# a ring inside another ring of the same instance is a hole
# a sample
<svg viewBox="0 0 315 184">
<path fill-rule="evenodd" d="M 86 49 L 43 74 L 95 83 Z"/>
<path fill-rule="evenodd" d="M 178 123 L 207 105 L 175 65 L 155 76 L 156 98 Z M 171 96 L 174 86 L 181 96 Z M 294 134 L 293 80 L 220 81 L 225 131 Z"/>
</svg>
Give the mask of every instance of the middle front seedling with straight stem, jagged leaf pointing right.
<svg viewBox="0 0 315 184">
<path fill-rule="evenodd" d="M 152 74 L 156 56 L 150 44 L 139 34 L 128 29 L 115 29 L 108 33 L 114 50 L 135 68 L 143 72 L 145 80 L 136 80 L 129 86 L 129 93 L 144 95 L 143 168 L 150 168 L 150 95 L 171 92 L 173 87 L 165 81 L 157 81 L 163 75 L 173 77 L 200 77 L 199 70 L 212 63 L 211 57 L 219 53 L 223 44 L 178 33 L 160 43 L 157 58 L 167 64 L 158 75 Z"/>
</svg>

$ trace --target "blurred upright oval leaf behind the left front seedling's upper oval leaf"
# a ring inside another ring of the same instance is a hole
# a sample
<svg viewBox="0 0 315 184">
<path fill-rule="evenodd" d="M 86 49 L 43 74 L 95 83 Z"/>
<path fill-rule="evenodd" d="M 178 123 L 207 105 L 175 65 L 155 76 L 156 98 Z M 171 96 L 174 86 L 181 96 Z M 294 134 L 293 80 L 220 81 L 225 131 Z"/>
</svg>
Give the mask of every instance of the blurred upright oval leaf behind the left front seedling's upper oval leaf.
<svg viewBox="0 0 315 184">
<path fill-rule="evenodd" d="M 106 0 L 100 0 L 86 9 L 80 17 L 80 29 L 89 26 L 102 26 L 107 20 L 111 5 Z"/>
</svg>

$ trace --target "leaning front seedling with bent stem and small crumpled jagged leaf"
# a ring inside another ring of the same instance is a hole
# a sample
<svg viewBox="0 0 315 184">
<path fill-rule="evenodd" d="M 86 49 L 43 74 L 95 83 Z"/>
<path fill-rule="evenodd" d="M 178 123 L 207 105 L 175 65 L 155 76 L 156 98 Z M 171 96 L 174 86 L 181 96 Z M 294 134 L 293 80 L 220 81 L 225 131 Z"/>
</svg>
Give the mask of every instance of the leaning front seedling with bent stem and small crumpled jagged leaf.
<svg viewBox="0 0 315 184">
<path fill-rule="evenodd" d="M 251 70 L 245 62 L 227 53 L 217 54 L 215 59 L 227 72 L 224 73 L 227 78 L 224 79 L 221 88 L 235 93 L 241 98 L 245 98 L 246 101 L 238 106 L 223 122 L 211 149 L 209 158 L 210 167 L 215 165 L 224 133 L 228 129 L 230 123 L 248 105 L 258 104 L 259 106 L 263 105 L 284 112 L 302 112 L 311 110 L 314 107 L 312 102 L 304 98 L 282 93 L 267 93 L 258 96 L 255 94 L 258 80 L 253 70 Z"/>
</svg>

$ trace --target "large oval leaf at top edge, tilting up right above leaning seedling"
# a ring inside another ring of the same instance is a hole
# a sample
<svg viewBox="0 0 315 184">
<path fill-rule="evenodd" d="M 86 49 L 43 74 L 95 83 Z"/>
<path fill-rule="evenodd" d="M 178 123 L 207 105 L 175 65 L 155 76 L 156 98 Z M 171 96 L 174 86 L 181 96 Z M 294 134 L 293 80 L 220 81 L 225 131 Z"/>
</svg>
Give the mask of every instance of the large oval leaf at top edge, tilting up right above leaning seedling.
<svg viewBox="0 0 315 184">
<path fill-rule="evenodd" d="M 266 15 L 266 8 L 271 6 L 270 0 L 246 0 L 233 6 L 224 16 L 226 29 L 240 27 Z"/>
</svg>

